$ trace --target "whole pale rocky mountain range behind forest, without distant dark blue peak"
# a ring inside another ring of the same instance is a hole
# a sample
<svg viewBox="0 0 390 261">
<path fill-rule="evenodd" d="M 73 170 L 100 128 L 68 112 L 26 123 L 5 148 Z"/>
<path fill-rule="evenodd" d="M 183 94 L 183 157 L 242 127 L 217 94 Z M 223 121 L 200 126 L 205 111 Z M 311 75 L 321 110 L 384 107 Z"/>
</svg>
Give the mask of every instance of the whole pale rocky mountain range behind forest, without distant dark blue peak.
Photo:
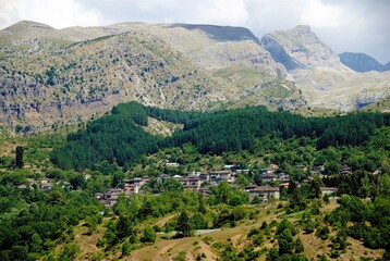
<svg viewBox="0 0 390 261">
<path fill-rule="evenodd" d="M 0 125 L 32 133 L 82 124 L 118 103 L 218 110 L 350 111 L 386 99 L 387 73 L 357 74 L 309 26 L 264 36 L 216 25 L 0 30 Z"/>
</svg>

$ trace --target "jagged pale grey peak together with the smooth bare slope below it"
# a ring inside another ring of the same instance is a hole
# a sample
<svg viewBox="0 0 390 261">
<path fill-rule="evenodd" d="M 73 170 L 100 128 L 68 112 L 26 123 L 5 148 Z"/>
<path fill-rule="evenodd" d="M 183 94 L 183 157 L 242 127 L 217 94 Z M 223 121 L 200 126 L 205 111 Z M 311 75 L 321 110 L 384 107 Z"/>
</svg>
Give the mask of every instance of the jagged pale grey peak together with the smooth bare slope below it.
<svg viewBox="0 0 390 261">
<path fill-rule="evenodd" d="M 361 109 L 390 97 L 389 73 L 356 73 L 309 26 L 265 35 L 260 45 L 288 70 L 309 108 Z"/>
</svg>

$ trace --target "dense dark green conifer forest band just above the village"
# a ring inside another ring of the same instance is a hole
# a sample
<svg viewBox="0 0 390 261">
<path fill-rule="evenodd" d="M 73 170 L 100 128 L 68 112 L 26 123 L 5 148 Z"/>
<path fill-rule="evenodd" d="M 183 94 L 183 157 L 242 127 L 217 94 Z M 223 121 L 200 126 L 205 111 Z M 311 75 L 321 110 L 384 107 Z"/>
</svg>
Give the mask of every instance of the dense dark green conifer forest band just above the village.
<svg viewBox="0 0 390 261">
<path fill-rule="evenodd" d="M 146 133 L 147 117 L 184 124 L 181 132 L 161 138 Z M 270 112 L 248 107 L 215 113 L 181 112 L 143 107 L 136 102 L 117 105 L 111 114 L 89 123 L 84 130 L 68 136 L 51 160 L 61 169 L 93 169 L 103 161 L 130 166 L 159 148 L 191 142 L 200 153 L 254 151 L 256 138 L 266 135 L 316 138 L 317 149 L 329 146 L 357 146 L 376 128 L 390 125 L 390 114 L 351 113 L 333 117 L 303 117 L 289 112 Z"/>
</svg>

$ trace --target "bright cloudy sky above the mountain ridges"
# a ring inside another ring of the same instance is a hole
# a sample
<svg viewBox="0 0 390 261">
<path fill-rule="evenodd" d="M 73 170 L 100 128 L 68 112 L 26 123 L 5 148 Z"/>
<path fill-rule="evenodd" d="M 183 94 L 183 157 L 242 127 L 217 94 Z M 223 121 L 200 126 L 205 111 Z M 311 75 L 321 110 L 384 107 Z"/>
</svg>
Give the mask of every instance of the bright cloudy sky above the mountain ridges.
<svg viewBox="0 0 390 261">
<path fill-rule="evenodd" d="M 120 22 L 245 26 L 255 35 L 298 24 L 333 51 L 390 61 L 390 0 L 0 0 L 0 28 L 21 20 L 56 28 Z"/>
</svg>

